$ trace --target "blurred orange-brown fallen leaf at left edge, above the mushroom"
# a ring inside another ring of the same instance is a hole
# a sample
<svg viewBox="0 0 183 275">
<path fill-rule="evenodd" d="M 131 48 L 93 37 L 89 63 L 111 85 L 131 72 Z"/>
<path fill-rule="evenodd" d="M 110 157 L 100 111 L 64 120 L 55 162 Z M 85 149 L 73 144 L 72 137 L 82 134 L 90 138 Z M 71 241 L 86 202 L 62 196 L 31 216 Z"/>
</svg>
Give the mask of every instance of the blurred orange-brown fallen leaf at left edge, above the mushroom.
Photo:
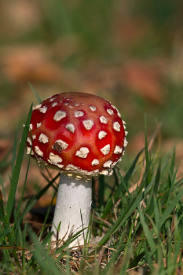
<svg viewBox="0 0 183 275">
<path fill-rule="evenodd" d="M 5 47 L 0 56 L 3 74 L 13 83 L 58 83 L 65 75 L 42 45 Z"/>
</svg>

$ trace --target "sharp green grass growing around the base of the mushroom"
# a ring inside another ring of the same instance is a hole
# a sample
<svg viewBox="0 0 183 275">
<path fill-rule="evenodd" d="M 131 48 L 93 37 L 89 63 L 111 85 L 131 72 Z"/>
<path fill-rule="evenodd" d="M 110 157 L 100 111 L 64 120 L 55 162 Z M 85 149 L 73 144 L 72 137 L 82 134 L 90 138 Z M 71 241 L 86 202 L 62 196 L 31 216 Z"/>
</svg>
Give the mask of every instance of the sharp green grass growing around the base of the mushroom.
<svg viewBox="0 0 183 275">
<path fill-rule="evenodd" d="M 16 201 L 31 111 L 32 107 L 18 153 L 15 138 L 8 197 L 0 177 L 0 274 L 72 274 L 74 268 L 78 274 L 130 274 L 138 268 L 144 274 L 178 274 L 178 271 L 181 274 L 183 179 L 176 177 L 175 152 L 163 162 L 148 151 L 147 137 L 144 149 L 129 165 L 125 175 L 115 168 L 110 179 L 113 185 L 107 184 L 105 177 L 100 177 L 101 187 L 98 200 L 94 201 L 90 226 L 94 236 L 101 238 L 93 250 L 87 245 L 91 238 L 89 230 L 78 259 L 67 248 L 77 235 L 53 250 L 52 234 L 46 232 L 45 226 L 50 208 L 39 234 L 36 235 L 31 225 L 23 223 L 25 214 L 58 177 L 56 175 L 49 181 L 44 175 L 47 185 L 25 201 L 29 161 L 21 199 Z M 141 172 L 137 188 L 129 192 L 131 181 Z M 82 230 L 78 234 L 82 234 Z"/>
</svg>

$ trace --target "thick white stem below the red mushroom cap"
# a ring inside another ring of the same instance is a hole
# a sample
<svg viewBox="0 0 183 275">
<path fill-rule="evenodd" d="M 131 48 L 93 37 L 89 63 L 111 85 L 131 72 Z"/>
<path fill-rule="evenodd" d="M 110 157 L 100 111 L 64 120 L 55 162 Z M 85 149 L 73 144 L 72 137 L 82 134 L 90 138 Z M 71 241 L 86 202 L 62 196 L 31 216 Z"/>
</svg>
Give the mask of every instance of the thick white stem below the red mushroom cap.
<svg viewBox="0 0 183 275">
<path fill-rule="evenodd" d="M 82 228 L 86 228 L 89 225 L 89 215 L 91 211 L 92 204 L 92 179 L 86 181 L 86 179 L 82 178 L 76 180 L 74 178 L 69 178 L 65 174 L 61 174 L 60 182 L 58 185 L 58 195 L 56 199 L 56 206 L 54 211 L 54 219 L 52 223 L 52 231 L 54 234 L 52 235 L 52 241 L 56 241 L 57 234 L 58 240 L 63 239 L 66 241 L 68 239 L 69 233 L 72 230 L 74 225 L 73 234 L 82 230 Z M 82 220 L 80 215 L 80 210 L 82 213 L 83 219 L 83 227 Z M 61 227 L 59 232 L 57 233 L 56 228 L 58 228 L 58 224 L 61 222 Z M 56 228 L 55 228 L 56 226 Z M 84 234 L 86 236 L 87 229 L 84 230 Z M 73 247 L 75 245 L 83 245 L 83 232 L 76 239 L 76 241 L 72 242 L 69 247 Z"/>
</svg>

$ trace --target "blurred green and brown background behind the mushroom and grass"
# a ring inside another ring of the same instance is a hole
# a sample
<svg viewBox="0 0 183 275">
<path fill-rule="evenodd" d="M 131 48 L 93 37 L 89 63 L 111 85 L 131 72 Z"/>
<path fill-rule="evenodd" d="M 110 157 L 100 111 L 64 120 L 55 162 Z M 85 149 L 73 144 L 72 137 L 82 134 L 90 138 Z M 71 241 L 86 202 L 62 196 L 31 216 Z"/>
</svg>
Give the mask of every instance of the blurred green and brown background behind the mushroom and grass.
<svg viewBox="0 0 183 275">
<path fill-rule="evenodd" d="M 156 148 L 182 159 L 182 12 L 179 0 L 1 1 L 0 161 L 37 103 L 29 82 L 42 99 L 81 91 L 115 104 L 129 132 L 121 166 L 144 146 L 144 113 L 149 135 L 161 124 Z"/>
</svg>

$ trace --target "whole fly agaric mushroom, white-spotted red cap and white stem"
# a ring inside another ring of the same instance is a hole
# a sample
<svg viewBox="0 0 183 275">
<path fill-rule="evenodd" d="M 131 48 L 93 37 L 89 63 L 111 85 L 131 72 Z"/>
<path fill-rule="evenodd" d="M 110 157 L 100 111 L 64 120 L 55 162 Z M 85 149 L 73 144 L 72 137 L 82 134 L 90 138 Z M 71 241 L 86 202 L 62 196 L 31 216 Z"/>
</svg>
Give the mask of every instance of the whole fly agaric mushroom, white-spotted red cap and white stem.
<svg viewBox="0 0 183 275">
<path fill-rule="evenodd" d="M 120 161 L 127 146 L 124 124 L 116 107 L 92 94 L 56 94 L 33 108 L 28 154 L 61 172 L 53 241 L 67 239 L 73 227 L 74 233 L 82 230 L 80 211 L 84 228 L 89 225 L 92 177 L 111 175 Z M 83 243 L 81 234 L 72 245 Z"/>
</svg>

